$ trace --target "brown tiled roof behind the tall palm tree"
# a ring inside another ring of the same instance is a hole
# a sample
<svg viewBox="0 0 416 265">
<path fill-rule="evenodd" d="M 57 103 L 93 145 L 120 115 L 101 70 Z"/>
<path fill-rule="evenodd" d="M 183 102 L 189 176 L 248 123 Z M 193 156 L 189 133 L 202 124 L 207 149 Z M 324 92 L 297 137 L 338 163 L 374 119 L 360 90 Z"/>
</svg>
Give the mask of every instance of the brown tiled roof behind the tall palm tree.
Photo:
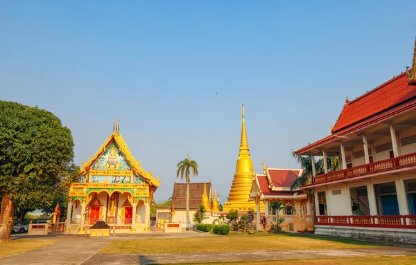
<svg viewBox="0 0 416 265">
<path fill-rule="evenodd" d="M 211 182 L 207 182 L 207 190 L 211 189 Z M 202 194 L 204 194 L 204 183 L 189 183 L 189 209 L 198 209 L 202 204 Z M 187 183 L 174 183 L 172 204 L 175 209 L 187 208 Z"/>
</svg>

